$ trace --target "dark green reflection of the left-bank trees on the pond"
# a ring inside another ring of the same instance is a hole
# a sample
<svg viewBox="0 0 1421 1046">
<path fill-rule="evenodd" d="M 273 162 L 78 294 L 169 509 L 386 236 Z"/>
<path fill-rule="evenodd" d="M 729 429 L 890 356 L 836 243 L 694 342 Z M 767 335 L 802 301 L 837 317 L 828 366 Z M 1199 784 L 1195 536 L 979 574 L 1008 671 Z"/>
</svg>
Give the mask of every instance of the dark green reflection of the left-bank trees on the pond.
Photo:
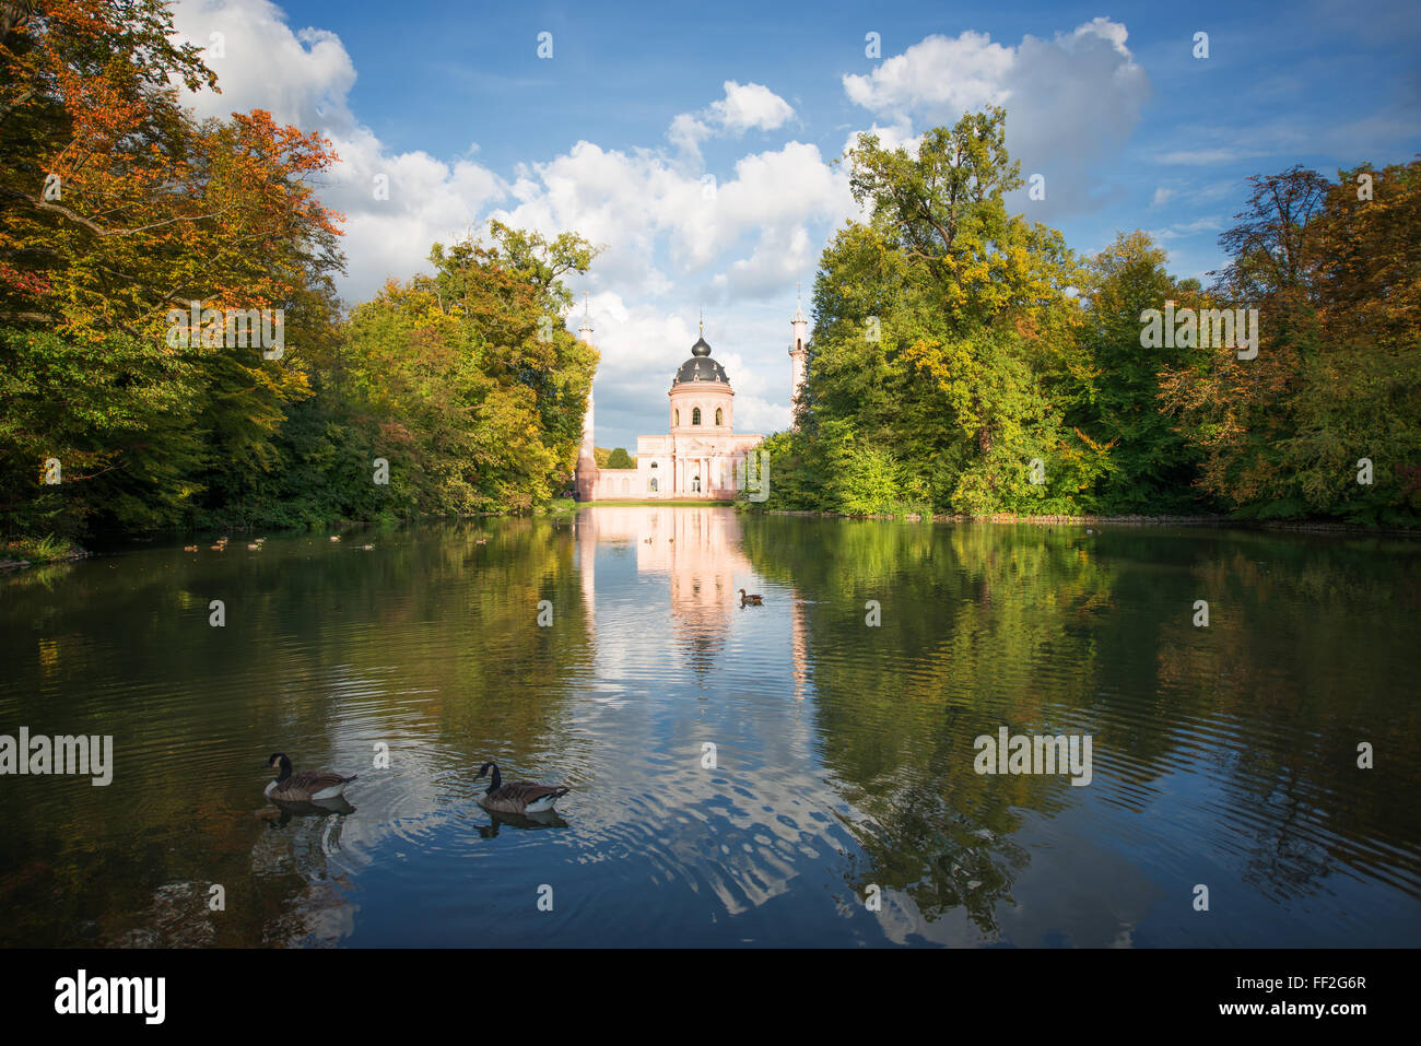
<svg viewBox="0 0 1421 1046">
<path fill-rule="evenodd" d="M 568 527 L 374 533 L 368 553 L 355 540 L 271 536 L 261 553 L 220 557 L 145 550 L 75 564 L 54 591 L 11 590 L 6 719 L 112 733 L 117 770 L 109 787 L 51 777 L 0 790 L 0 901 L 14 914 L 0 944 L 308 939 L 334 925 L 344 891 L 313 888 L 296 866 L 254 864 L 273 748 L 301 766 L 352 748 L 368 759 L 362 735 L 412 721 L 446 749 L 513 765 L 553 743 L 568 676 L 591 659 Z M 226 628 L 207 627 L 217 594 Z M 553 628 L 536 624 L 544 598 Z M 97 679 L 122 682 L 121 703 Z M 213 883 L 226 912 L 207 910 Z"/>
</svg>

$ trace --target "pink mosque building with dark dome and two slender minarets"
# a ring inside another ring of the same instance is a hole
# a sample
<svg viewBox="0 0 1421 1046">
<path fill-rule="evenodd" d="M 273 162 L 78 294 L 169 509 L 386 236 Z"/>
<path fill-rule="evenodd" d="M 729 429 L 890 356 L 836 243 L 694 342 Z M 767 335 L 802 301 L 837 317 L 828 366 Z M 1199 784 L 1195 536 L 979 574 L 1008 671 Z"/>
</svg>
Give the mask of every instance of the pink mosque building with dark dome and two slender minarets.
<svg viewBox="0 0 1421 1046">
<path fill-rule="evenodd" d="M 790 375 L 794 402 L 804 384 L 807 358 L 803 308 L 790 320 Z M 584 314 L 578 337 L 591 344 L 593 324 Z M 736 435 L 735 389 L 725 367 L 710 358 L 710 345 L 701 337 L 691 347 L 691 358 L 671 379 L 668 405 L 669 432 L 637 436 L 637 468 L 601 469 L 593 453 L 593 397 L 587 397 L 583 418 L 583 446 L 577 456 L 577 500 L 730 500 L 736 495 L 736 476 L 743 475 L 745 458 L 764 442 L 762 435 Z M 753 476 L 755 472 L 752 470 Z"/>
</svg>

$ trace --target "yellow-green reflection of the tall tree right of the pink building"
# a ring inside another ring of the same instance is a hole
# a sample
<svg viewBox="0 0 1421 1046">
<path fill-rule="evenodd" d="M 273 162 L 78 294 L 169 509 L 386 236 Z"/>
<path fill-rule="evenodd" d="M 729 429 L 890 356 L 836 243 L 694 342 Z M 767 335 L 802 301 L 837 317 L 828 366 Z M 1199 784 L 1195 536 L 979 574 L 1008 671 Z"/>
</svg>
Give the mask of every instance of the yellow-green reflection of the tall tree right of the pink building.
<svg viewBox="0 0 1421 1046">
<path fill-rule="evenodd" d="M 1003 722 L 1056 732 L 1088 718 L 1115 571 L 1032 527 L 804 526 L 811 540 L 750 520 L 746 549 L 803 598 L 824 760 L 868 816 L 850 826 L 867 860 L 851 884 L 905 893 L 929 921 L 963 908 L 993 935 L 1027 860 L 1010 840 L 1022 812 L 1060 809 L 1070 786 L 979 776 L 973 739 Z M 870 598 L 884 607 L 878 628 L 864 624 Z M 1050 682 L 1030 682 L 1043 664 Z"/>
</svg>

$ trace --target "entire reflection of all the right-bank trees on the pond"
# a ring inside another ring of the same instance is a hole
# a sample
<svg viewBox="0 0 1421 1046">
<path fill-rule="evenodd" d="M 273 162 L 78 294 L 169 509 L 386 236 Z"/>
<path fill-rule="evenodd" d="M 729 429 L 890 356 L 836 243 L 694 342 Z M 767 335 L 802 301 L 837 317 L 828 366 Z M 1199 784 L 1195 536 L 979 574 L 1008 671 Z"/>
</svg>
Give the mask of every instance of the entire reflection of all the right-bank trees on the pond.
<svg viewBox="0 0 1421 1046">
<path fill-rule="evenodd" d="M 975 775 L 972 738 L 1002 722 L 1094 729 L 1110 803 L 1137 813 L 1160 779 L 1204 769 L 1223 790 L 1201 810 L 1211 843 L 1243 851 L 1260 894 L 1313 893 L 1358 866 L 1421 893 L 1421 711 L 1397 684 L 1418 638 L 1414 544 L 1378 556 L 1374 540 L 1238 532 L 784 523 L 752 519 L 746 549 L 801 600 L 824 760 L 868 816 L 851 826 L 860 895 L 877 883 L 929 921 L 962 907 L 995 932 L 1026 861 L 1010 843 L 1022 812 L 1081 797 L 1063 777 Z M 1206 630 L 1192 624 L 1204 597 Z M 877 630 L 865 598 L 882 601 Z M 1387 752 L 1384 772 L 1356 769 L 1364 739 Z"/>
</svg>

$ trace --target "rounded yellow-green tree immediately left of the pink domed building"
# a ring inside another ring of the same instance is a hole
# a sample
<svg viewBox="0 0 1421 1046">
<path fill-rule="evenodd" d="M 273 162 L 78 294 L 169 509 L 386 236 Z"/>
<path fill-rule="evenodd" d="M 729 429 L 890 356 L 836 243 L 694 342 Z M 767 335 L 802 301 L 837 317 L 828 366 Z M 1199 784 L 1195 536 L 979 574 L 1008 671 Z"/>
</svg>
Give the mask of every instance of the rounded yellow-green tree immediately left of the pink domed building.
<svg viewBox="0 0 1421 1046">
<path fill-rule="evenodd" d="M 419 513 L 526 512 L 577 463 L 597 354 L 551 310 L 571 304 L 557 274 L 591 249 L 493 237 L 433 244 L 433 276 L 388 284 L 344 330 L 344 394 L 378 424 L 375 449 Z"/>
</svg>

